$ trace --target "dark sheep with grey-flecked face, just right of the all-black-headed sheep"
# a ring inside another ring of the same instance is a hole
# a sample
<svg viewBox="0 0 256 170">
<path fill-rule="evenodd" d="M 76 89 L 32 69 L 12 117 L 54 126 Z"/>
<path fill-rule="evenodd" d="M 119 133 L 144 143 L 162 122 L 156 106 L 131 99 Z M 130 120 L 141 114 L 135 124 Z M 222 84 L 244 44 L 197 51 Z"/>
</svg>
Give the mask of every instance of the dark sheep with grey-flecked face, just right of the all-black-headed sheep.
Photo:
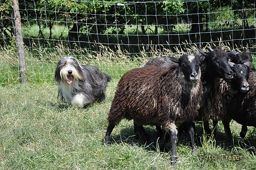
<svg viewBox="0 0 256 170">
<path fill-rule="evenodd" d="M 210 102 L 205 110 L 208 119 L 213 120 L 214 128 L 217 127 L 218 120 L 222 120 L 226 135 L 229 140 L 232 139 L 229 123 L 233 119 L 232 113 L 229 112 L 230 100 L 236 94 L 244 95 L 249 91 L 249 67 L 246 64 L 235 64 L 229 62 L 231 69 L 234 71 L 234 78 L 226 82 L 221 78 L 215 78 L 209 98 Z M 205 122 L 206 123 L 206 122 Z M 215 133 L 214 129 L 214 133 Z"/>
</svg>

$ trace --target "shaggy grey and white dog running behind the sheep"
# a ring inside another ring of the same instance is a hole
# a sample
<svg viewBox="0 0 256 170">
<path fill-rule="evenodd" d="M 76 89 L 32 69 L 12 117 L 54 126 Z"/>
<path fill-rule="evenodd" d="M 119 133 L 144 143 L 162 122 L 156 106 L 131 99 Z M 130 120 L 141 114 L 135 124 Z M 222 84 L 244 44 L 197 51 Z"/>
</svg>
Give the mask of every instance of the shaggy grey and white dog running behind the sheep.
<svg viewBox="0 0 256 170">
<path fill-rule="evenodd" d="M 107 83 L 111 76 L 97 67 L 79 64 L 78 60 L 68 56 L 59 60 L 55 70 L 55 83 L 58 86 L 58 98 L 75 107 L 105 100 Z"/>
</svg>

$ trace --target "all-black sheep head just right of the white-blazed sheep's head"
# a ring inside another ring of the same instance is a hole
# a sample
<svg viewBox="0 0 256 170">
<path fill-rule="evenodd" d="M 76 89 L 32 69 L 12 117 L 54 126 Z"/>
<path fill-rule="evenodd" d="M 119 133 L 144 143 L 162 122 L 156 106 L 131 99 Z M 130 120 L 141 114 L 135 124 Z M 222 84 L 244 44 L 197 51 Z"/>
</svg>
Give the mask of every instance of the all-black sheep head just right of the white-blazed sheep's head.
<svg viewBox="0 0 256 170">
<path fill-rule="evenodd" d="M 210 47 L 206 47 L 208 52 L 197 48 L 197 50 L 206 58 L 207 72 L 210 75 L 223 78 L 227 82 L 233 79 L 234 72 L 229 66 L 229 56 L 223 47 L 217 47 L 213 50 Z"/>
</svg>

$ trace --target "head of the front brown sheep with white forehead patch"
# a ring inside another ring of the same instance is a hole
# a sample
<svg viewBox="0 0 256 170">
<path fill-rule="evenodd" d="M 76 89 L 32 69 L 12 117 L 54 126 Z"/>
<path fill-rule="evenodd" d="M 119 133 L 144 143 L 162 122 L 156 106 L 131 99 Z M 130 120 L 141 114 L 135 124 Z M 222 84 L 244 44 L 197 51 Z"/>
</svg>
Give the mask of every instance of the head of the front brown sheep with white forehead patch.
<svg viewBox="0 0 256 170">
<path fill-rule="evenodd" d="M 197 54 L 186 54 L 180 58 L 168 56 L 168 58 L 179 64 L 179 69 L 182 71 L 185 79 L 189 82 L 195 83 L 200 78 L 199 63 L 204 59 L 203 56 Z"/>
</svg>

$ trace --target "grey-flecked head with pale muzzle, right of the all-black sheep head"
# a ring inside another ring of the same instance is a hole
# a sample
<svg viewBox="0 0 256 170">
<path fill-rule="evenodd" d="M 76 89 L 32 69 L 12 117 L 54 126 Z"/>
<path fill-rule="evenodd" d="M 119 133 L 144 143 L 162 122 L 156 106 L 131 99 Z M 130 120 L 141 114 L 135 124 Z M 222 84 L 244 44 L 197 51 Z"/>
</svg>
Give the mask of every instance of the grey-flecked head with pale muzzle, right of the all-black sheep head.
<svg viewBox="0 0 256 170">
<path fill-rule="evenodd" d="M 248 92 L 249 91 L 249 67 L 247 64 L 235 64 L 233 62 L 229 62 L 231 69 L 234 71 L 234 79 L 231 84 L 233 84 L 236 90 L 240 92 Z"/>
</svg>

